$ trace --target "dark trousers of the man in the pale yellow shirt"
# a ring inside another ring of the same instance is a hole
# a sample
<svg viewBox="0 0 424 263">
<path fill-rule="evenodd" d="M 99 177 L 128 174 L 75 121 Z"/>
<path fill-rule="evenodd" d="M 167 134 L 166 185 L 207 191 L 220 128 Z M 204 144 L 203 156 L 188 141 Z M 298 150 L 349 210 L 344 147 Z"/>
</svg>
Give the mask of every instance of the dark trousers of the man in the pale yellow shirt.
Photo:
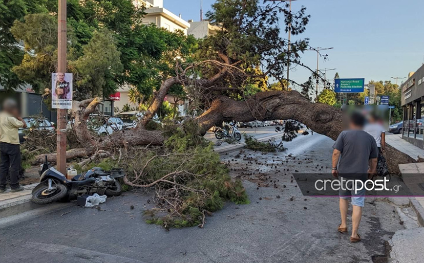
<svg viewBox="0 0 424 263">
<path fill-rule="evenodd" d="M 19 144 L 0 142 L 0 188 L 6 188 L 6 177 L 10 175 L 10 188 L 19 187 L 21 150 Z"/>
</svg>

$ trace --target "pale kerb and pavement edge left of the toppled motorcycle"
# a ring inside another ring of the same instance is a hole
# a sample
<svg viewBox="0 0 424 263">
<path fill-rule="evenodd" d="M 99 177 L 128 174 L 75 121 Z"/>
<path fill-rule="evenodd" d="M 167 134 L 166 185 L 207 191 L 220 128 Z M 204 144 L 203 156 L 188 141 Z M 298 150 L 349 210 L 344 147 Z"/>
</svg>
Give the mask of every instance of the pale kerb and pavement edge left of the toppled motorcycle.
<svg viewBox="0 0 424 263">
<path fill-rule="evenodd" d="M 24 188 L 25 190 L 32 190 L 37 185 L 38 183 L 25 185 Z M 8 192 L 6 192 L 5 194 L 7 195 Z M 42 205 L 38 205 L 31 202 L 31 197 L 31 194 L 26 194 L 22 196 L 17 195 L 16 197 L 0 201 L 0 219 L 43 207 Z"/>
</svg>

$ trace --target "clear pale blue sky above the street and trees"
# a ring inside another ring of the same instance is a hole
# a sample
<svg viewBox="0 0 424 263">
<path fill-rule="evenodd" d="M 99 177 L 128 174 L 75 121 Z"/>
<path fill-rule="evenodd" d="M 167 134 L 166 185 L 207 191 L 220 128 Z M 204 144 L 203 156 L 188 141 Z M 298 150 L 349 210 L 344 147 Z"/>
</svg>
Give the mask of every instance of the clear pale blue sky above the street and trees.
<svg viewBox="0 0 424 263">
<path fill-rule="evenodd" d="M 204 14 L 213 2 L 203 0 Z M 320 69 L 337 68 L 327 72 L 329 78 L 338 71 L 340 78 L 391 80 L 424 62 L 423 0 L 297 0 L 292 10 L 301 5 L 311 19 L 300 37 L 314 47 L 334 47 L 326 52 L 328 61 L 319 61 Z M 200 0 L 164 0 L 164 7 L 186 21 L 199 21 Z M 316 54 L 306 51 L 303 63 L 315 69 Z M 299 68 L 290 77 L 301 83 L 309 75 Z"/>
</svg>

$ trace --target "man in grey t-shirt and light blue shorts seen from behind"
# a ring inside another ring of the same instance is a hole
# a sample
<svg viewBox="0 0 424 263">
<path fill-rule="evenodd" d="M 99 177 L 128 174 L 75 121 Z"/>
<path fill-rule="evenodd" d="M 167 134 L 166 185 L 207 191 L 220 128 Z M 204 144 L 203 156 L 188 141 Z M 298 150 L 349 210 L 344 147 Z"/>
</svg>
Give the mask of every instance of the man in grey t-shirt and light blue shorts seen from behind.
<svg viewBox="0 0 424 263">
<path fill-rule="evenodd" d="M 374 138 L 367 132 L 362 131 L 365 118 L 360 113 L 353 113 L 350 117 L 350 131 L 343 131 L 339 134 L 333 145 L 333 171 L 334 177 L 340 180 L 362 180 L 365 182 L 367 175 L 375 174 L 377 166 L 378 149 Z M 338 166 L 339 163 L 339 166 Z M 368 170 L 368 163 L 370 168 Z M 358 184 L 346 183 L 344 189 L 339 190 L 339 208 L 341 224 L 338 231 L 347 232 L 347 206 L 348 198 L 351 197 L 352 213 L 352 235 L 350 241 L 355 243 L 360 241 L 358 228 L 362 216 L 362 207 L 365 200 L 365 188 L 355 191 Z M 347 190 L 351 189 L 351 190 Z"/>
</svg>

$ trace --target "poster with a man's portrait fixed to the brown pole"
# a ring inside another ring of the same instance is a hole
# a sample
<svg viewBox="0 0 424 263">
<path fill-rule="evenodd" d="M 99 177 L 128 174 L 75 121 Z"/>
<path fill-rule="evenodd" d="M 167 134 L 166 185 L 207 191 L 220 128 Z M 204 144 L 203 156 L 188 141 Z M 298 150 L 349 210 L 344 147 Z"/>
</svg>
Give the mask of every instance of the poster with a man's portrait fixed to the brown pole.
<svg viewBox="0 0 424 263">
<path fill-rule="evenodd" d="M 72 109 L 72 73 L 51 73 L 52 108 Z"/>
</svg>

